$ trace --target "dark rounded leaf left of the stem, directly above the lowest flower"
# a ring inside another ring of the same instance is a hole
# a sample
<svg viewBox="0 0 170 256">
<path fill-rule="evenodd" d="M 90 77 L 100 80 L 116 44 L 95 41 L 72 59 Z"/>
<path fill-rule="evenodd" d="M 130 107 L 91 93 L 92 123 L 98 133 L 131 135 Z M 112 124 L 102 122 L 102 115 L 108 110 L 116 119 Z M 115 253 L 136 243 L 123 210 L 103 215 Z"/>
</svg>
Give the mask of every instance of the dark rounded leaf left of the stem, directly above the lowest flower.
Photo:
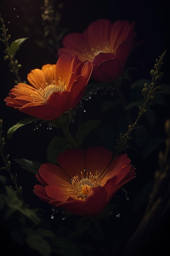
<svg viewBox="0 0 170 256">
<path fill-rule="evenodd" d="M 57 164 L 57 155 L 66 148 L 66 139 L 54 137 L 47 148 L 47 159 L 51 164 Z"/>
</svg>

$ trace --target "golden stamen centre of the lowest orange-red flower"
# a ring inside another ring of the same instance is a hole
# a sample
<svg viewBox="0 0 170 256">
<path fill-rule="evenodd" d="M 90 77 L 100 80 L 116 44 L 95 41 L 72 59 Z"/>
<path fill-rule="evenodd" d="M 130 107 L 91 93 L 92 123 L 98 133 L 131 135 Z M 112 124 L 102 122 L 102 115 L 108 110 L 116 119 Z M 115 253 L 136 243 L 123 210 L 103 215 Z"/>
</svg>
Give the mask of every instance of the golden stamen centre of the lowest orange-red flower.
<svg viewBox="0 0 170 256">
<path fill-rule="evenodd" d="M 84 170 L 85 171 L 85 170 Z M 76 175 L 71 179 L 71 184 L 73 186 L 73 189 L 77 193 L 75 197 L 79 198 L 85 198 L 88 195 L 88 192 L 90 189 L 100 186 L 99 184 L 99 175 L 97 173 L 97 170 L 95 171 L 94 175 L 92 173 L 86 172 L 86 176 L 84 177 L 83 172 L 81 171 L 81 179 L 79 179 L 79 176 Z"/>
</svg>

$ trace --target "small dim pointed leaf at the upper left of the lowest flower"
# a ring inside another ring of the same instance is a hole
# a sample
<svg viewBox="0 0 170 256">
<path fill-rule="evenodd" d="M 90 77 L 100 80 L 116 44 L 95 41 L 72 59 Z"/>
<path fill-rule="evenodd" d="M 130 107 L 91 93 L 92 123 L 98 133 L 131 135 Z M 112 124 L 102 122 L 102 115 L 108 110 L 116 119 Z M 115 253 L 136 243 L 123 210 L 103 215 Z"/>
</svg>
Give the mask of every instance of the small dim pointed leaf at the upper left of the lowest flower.
<svg viewBox="0 0 170 256">
<path fill-rule="evenodd" d="M 36 162 L 36 161 L 31 161 L 31 160 L 27 160 L 24 158 L 21 159 L 13 159 L 15 162 L 17 162 L 18 164 L 20 164 L 20 166 L 23 169 L 26 169 L 27 171 L 36 174 L 38 173 L 38 169 L 40 168 L 40 165 L 42 163 L 40 162 Z"/>
</svg>

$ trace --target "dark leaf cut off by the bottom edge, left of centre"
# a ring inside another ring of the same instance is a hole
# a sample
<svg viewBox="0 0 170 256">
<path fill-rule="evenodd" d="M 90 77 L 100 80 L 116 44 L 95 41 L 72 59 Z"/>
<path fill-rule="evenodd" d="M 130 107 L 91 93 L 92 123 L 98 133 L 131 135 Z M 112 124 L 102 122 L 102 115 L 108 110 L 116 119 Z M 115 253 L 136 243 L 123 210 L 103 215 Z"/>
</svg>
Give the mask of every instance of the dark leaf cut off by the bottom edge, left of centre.
<svg viewBox="0 0 170 256">
<path fill-rule="evenodd" d="M 83 256 L 77 245 L 64 238 L 60 238 L 54 241 L 53 252 L 63 256 Z"/>
</svg>

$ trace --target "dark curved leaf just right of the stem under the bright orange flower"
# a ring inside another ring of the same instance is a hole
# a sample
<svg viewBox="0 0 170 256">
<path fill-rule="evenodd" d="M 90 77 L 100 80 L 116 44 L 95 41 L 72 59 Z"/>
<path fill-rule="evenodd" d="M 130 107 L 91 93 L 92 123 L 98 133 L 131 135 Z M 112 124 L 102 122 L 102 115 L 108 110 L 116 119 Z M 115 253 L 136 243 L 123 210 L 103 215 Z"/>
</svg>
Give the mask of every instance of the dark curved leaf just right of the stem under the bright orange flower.
<svg viewBox="0 0 170 256">
<path fill-rule="evenodd" d="M 101 123 L 101 120 L 91 119 L 84 122 L 77 130 L 76 140 L 78 145 L 81 146 L 82 141 L 88 135 L 91 130 L 96 128 Z"/>
</svg>

